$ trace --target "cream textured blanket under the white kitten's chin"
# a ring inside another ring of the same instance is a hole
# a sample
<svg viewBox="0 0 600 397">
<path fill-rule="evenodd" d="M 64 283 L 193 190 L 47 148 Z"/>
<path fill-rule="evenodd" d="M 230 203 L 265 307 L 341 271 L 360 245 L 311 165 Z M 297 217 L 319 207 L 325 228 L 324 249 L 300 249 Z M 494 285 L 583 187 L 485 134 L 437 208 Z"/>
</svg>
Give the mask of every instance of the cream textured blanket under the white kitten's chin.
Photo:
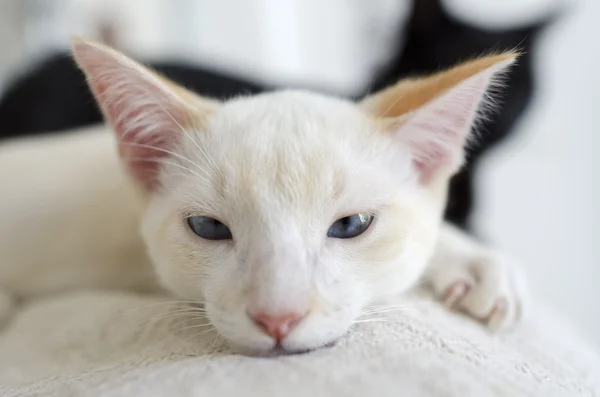
<svg viewBox="0 0 600 397">
<path fill-rule="evenodd" d="M 255 358 L 168 302 L 79 292 L 23 307 L 0 334 L 0 395 L 600 396 L 599 356 L 542 309 L 492 336 L 412 295 L 333 347 Z"/>
</svg>

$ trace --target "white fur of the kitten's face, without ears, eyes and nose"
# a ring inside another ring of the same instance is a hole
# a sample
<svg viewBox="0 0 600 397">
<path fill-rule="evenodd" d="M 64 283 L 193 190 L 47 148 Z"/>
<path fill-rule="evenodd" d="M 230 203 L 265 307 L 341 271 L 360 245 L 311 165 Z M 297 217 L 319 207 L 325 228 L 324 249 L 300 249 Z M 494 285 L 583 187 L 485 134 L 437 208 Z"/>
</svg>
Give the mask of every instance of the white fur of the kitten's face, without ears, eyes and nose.
<svg viewBox="0 0 600 397">
<path fill-rule="evenodd" d="M 369 139 L 370 128 L 354 105 L 314 94 L 282 92 L 223 105 L 205 131 L 190 134 L 204 153 L 192 143 L 180 151 L 199 165 L 188 167 L 202 170 L 200 182 L 165 165 L 166 193 L 153 196 L 143 221 L 163 283 L 186 299 L 205 301 L 225 337 L 259 350 L 275 342 L 252 323 L 248 309 L 310 312 L 282 343 L 302 350 L 346 332 L 372 296 L 408 287 L 432 242 L 406 230 L 393 263 L 364 263 L 360 251 L 385 235 L 390 222 L 402 221 L 386 219 L 387 205 L 402 203 L 406 211 L 422 213 L 419 221 L 431 231 L 436 212 L 428 215 L 428 206 L 420 204 L 429 199 L 408 178 L 409 163 L 391 168 L 394 153 L 385 140 Z M 215 178 L 223 181 L 219 189 Z M 342 187 L 338 197 L 336 183 Z M 366 211 L 377 220 L 364 235 L 325 238 L 337 219 Z M 221 220 L 235 243 L 192 235 L 182 214 Z M 373 266 L 398 271 L 371 271 Z"/>
</svg>

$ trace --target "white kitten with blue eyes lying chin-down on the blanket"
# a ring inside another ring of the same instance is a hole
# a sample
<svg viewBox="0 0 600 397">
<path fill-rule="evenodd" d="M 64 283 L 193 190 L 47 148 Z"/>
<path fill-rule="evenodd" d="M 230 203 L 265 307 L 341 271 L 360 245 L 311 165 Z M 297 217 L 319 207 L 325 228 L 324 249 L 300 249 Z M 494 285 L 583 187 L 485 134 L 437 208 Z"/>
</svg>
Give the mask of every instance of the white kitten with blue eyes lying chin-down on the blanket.
<svg viewBox="0 0 600 397">
<path fill-rule="evenodd" d="M 0 169 L 43 167 L 0 179 L 11 192 L 0 209 L 8 292 L 151 287 L 141 224 L 162 285 L 204 303 L 250 351 L 323 346 L 424 273 L 492 326 L 518 319 L 510 263 L 449 227 L 439 234 L 467 134 L 514 54 L 357 105 L 299 91 L 218 103 L 100 44 L 73 50 L 127 173 L 102 131 L 1 149 Z"/>
</svg>

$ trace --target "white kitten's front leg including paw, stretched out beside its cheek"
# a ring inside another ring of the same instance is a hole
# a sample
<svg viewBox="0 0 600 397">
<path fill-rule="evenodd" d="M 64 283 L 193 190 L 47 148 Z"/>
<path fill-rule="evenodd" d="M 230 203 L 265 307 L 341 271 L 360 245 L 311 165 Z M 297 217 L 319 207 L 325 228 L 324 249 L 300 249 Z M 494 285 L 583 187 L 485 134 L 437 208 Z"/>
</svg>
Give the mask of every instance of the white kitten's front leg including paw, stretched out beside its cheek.
<svg viewBox="0 0 600 397">
<path fill-rule="evenodd" d="M 449 224 L 442 226 L 425 275 L 448 308 L 491 329 L 510 327 L 524 315 L 527 288 L 519 267 Z"/>
</svg>

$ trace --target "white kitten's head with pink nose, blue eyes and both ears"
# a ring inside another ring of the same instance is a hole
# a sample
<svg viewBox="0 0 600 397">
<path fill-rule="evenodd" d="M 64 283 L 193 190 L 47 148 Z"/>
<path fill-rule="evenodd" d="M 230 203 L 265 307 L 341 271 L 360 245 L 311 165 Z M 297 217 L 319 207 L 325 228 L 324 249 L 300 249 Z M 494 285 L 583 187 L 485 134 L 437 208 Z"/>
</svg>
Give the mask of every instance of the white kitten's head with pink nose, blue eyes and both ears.
<svg viewBox="0 0 600 397">
<path fill-rule="evenodd" d="M 297 91 L 221 103 L 102 45 L 76 40 L 74 54 L 148 193 L 160 279 L 255 352 L 325 345 L 418 279 L 480 102 L 515 58 L 360 104 Z"/>
</svg>

